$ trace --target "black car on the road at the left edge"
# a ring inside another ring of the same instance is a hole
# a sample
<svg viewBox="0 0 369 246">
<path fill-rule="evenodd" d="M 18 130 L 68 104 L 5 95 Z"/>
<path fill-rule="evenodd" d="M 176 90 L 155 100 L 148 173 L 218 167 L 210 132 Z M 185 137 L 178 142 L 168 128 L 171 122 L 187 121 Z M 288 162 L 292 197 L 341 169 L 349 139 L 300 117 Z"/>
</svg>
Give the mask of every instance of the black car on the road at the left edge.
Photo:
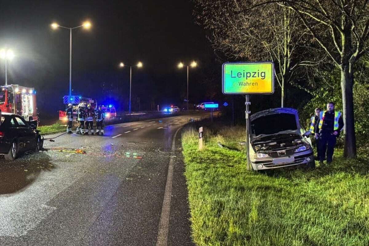
<svg viewBox="0 0 369 246">
<path fill-rule="evenodd" d="M 44 141 L 36 128 L 37 121 L 25 121 L 20 115 L 2 113 L 0 155 L 6 160 L 14 160 L 18 153 L 42 150 Z"/>
</svg>

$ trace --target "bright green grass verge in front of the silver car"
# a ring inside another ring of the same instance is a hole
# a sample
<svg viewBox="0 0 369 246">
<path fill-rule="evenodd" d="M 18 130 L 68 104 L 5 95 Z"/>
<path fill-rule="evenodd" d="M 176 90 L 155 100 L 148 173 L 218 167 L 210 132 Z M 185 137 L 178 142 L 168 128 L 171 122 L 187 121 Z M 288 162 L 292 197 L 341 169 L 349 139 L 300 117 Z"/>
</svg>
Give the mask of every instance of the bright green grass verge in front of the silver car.
<svg viewBox="0 0 369 246">
<path fill-rule="evenodd" d="M 192 236 L 197 245 L 367 246 L 369 163 L 336 151 L 330 166 L 315 170 L 247 171 L 238 148 L 243 128 L 182 134 Z M 363 156 L 361 156 L 363 157 Z"/>
</svg>

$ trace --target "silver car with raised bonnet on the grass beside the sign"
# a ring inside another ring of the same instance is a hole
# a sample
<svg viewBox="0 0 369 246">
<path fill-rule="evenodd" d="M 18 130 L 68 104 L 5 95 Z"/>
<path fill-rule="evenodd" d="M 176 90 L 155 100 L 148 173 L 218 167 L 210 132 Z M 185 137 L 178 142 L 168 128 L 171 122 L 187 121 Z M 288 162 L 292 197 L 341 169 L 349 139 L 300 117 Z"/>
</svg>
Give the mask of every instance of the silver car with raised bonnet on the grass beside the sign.
<svg viewBox="0 0 369 246">
<path fill-rule="evenodd" d="M 254 170 L 301 165 L 315 168 L 310 139 L 297 110 L 274 108 L 250 117 L 250 160 Z"/>
</svg>

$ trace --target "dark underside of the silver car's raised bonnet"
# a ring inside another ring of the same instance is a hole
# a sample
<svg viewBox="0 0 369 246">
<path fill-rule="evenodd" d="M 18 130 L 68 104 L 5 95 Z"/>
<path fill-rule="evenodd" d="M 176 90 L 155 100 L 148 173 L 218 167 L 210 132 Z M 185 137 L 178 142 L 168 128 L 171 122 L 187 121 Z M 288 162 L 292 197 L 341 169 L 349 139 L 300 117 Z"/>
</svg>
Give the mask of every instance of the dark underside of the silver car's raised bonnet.
<svg viewBox="0 0 369 246">
<path fill-rule="evenodd" d="M 269 135 L 287 130 L 296 130 L 296 118 L 294 114 L 271 114 L 259 117 L 251 121 L 251 134 Z"/>
</svg>

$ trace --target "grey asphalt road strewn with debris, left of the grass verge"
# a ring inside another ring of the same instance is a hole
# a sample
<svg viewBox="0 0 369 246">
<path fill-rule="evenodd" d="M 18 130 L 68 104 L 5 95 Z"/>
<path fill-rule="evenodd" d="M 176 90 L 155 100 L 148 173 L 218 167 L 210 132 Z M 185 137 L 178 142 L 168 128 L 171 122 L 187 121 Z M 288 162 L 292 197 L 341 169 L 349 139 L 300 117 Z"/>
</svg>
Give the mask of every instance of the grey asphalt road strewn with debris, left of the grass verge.
<svg viewBox="0 0 369 246">
<path fill-rule="evenodd" d="M 0 245 L 193 245 L 177 130 L 206 116 L 65 134 L 0 160 Z"/>
</svg>

